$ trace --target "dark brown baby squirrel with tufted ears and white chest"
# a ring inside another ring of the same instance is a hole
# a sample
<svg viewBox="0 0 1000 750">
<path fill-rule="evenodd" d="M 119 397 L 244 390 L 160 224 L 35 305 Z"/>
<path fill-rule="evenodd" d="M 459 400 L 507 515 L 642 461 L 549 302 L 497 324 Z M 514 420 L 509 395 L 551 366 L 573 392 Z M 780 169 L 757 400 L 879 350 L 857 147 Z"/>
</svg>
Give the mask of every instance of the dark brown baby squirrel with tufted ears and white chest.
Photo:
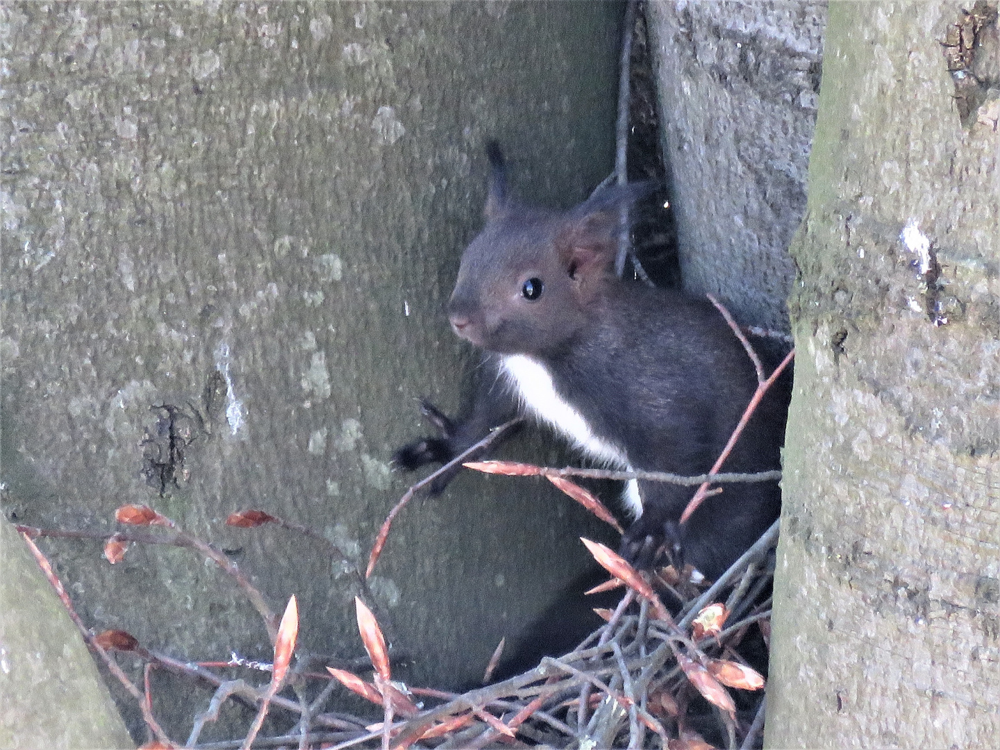
<svg viewBox="0 0 1000 750">
<path fill-rule="evenodd" d="M 486 225 L 462 256 L 448 303 L 451 327 L 484 351 L 469 413 L 428 403 L 440 436 L 400 448 L 396 466 L 446 462 L 516 414 L 547 423 L 615 469 L 706 473 L 757 377 L 743 346 L 706 299 L 618 279 L 619 215 L 648 187 L 605 188 L 569 211 L 528 208 L 507 195 L 496 143 Z M 788 378 L 760 404 L 723 466 L 780 467 Z M 432 486 L 440 492 L 455 472 Z M 644 567 L 666 551 L 715 578 L 778 517 L 777 482 L 724 484 L 683 524 L 694 488 L 631 480 L 634 517 L 623 555 Z"/>
</svg>

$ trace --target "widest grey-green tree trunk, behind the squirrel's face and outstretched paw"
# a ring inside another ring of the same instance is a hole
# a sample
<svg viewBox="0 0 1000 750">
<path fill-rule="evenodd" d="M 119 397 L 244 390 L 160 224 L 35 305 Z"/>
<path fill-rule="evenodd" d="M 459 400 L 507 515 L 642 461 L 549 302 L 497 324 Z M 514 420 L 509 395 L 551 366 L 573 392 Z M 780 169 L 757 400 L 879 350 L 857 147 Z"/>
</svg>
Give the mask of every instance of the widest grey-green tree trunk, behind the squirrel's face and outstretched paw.
<svg viewBox="0 0 1000 750">
<path fill-rule="evenodd" d="M 612 165 L 620 10 L 5 3 L 7 517 L 111 534 L 116 507 L 150 504 L 276 611 L 297 594 L 303 652 L 362 655 L 344 568 L 408 483 L 387 462 L 426 429 L 416 397 L 459 400 L 469 353 L 442 308 L 480 224 L 483 144 L 505 144 L 525 197 L 583 198 Z M 571 505 L 469 477 L 411 505 L 369 582 L 397 676 L 478 679 L 577 572 L 576 537 L 601 534 Z M 348 560 L 223 525 L 248 507 Z M 269 658 L 256 613 L 187 550 L 111 567 L 99 541 L 41 546 L 95 629 Z M 157 673 L 154 710 L 183 739 L 209 695 L 173 685 Z"/>
</svg>

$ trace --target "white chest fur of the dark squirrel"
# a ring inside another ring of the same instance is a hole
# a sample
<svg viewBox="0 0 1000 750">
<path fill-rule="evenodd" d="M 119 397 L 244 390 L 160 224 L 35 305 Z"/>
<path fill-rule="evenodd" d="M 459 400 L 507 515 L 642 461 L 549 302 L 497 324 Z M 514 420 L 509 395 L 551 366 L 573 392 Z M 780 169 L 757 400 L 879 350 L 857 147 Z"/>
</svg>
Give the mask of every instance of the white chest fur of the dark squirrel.
<svg viewBox="0 0 1000 750">
<path fill-rule="evenodd" d="M 591 458 L 617 469 L 632 470 L 625 451 L 594 434 L 583 415 L 559 395 L 552 376 L 541 363 L 524 354 L 510 354 L 502 359 L 500 369 L 529 414 L 550 424 Z M 642 515 L 636 480 L 626 484 L 623 500 L 636 517 Z"/>
</svg>

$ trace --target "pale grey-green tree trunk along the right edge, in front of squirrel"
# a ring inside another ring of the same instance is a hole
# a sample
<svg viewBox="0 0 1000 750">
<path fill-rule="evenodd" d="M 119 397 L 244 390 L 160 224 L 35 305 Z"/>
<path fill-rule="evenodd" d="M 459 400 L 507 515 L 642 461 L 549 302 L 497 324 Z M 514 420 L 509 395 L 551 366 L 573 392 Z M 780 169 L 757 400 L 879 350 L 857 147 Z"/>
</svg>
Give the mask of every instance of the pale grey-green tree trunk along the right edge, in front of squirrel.
<svg viewBox="0 0 1000 750">
<path fill-rule="evenodd" d="M 830 4 L 771 747 L 1000 737 L 1000 51 L 963 7 Z"/>
</svg>

